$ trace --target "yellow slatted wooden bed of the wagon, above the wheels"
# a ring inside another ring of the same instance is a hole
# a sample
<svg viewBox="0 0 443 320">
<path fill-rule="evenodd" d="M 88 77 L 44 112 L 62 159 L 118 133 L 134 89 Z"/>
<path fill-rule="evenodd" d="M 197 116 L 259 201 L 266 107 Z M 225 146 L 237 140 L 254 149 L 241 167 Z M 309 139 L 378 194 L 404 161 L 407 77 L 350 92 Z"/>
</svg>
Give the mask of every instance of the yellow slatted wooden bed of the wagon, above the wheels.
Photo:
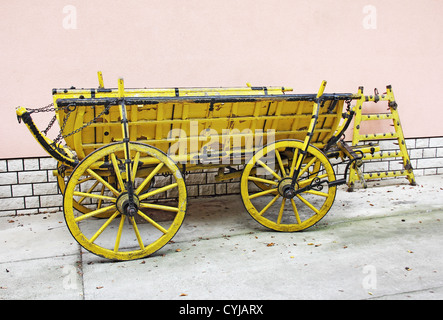
<svg viewBox="0 0 443 320">
<path fill-rule="evenodd" d="M 277 140 L 303 140 L 316 94 L 287 94 L 289 90 L 284 87 L 125 89 L 130 140 L 167 153 L 179 140 L 178 132 L 182 130 L 186 133 L 187 149 L 191 150 L 191 140 L 195 143 L 187 159 L 179 159 L 180 162 L 198 157 L 196 153 L 202 151 L 207 140 L 214 140 L 213 143 L 219 140 L 219 146 L 233 152 L 232 141 L 230 145 L 222 141 L 228 135 L 232 140 L 235 135 L 251 136 L 262 130 L 261 145 L 264 145 L 268 131 L 274 130 Z M 344 101 L 352 97 L 352 94 L 322 96 L 311 144 L 319 148 L 326 145 L 339 126 Z M 79 160 L 100 147 L 123 140 L 118 89 L 55 89 L 53 99 L 60 126 L 66 121 L 64 134 L 84 127 L 65 138 Z M 102 114 L 105 108 L 109 112 Z M 99 114 L 102 116 L 96 119 Z M 237 147 L 248 147 L 245 139 Z"/>
</svg>

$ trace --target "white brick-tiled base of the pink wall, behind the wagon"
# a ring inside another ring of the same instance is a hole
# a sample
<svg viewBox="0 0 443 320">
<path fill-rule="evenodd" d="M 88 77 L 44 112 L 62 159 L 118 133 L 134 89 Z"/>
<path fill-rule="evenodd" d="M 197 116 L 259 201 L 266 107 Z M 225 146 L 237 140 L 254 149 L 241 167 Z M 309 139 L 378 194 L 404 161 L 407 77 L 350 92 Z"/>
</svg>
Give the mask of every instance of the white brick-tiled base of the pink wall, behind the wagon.
<svg viewBox="0 0 443 320">
<path fill-rule="evenodd" d="M 396 150 L 395 140 L 380 141 L 381 150 Z M 406 139 L 416 176 L 443 174 L 443 137 Z M 400 170 L 401 158 L 373 160 L 364 164 L 364 172 Z M 62 210 L 57 179 L 52 174 L 52 158 L 0 160 L 0 216 L 37 214 Z M 344 166 L 338 168 L 341 176 Z M 186 175 L 188 197 L 236 194 L 239 179 L 216 182 L 216 170 Z M 388 178 L 389 179 L 389 178 Z"/>
</svg>

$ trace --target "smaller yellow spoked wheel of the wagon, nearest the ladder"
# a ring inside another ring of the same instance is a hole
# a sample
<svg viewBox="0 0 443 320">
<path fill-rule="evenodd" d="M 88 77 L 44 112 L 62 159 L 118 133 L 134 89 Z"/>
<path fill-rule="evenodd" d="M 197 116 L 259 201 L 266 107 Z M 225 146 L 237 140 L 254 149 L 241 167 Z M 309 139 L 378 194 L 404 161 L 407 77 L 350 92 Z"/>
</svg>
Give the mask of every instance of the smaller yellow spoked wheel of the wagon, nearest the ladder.
<svg viewBox="0 0 443 320">
<path fill-rule="evenodd" d="M 335 199 L 335 173 L 328 158 L 309 146 L 295 184 L 295 196 L 285 197 L 303 142 L 281 140 L 267 145 L 246 163 L 241 196 L 249 214 L 260 224 L 277 231 L 300 231 L 317 223 Z M 255 182 L 269 188 L 253 191 Z"/>
</svg>

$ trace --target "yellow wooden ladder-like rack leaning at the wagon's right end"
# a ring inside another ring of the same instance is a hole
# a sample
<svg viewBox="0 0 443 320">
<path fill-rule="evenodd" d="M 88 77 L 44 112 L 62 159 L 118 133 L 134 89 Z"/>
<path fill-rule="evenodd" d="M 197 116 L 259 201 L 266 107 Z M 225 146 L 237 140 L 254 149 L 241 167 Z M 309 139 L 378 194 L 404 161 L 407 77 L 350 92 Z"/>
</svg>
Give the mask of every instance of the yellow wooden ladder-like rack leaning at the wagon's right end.
<svg viewBox="0 0 443 320">
<path fill-rule="evenodd" d="M 349 172 L 348 187 L 353 190 L 355 181 L 360 180 L 363 186 L 366 188 L 366 180 L 379 179 L 386 177 L 398 177 L 406 176 L 411 185 L 415 185 L 414 172 L 412 169 L 411 161 L 409 159 L 408 150 L 406 148 L 406 142 L 403 135 L 403 130 L 401 128 L 400 117 L 397 111 L 397 103 L 395 102 L 394 93 L 392 92 L 392 87 L 386 87 L 386 93 L 379 95 L 377 89 L 374 90 L 374 95 L 365 96 L 363 95 L 363 87 L 358 90 L 360 99 L 357 100 L 357 104 L 354 107 L 355 117 L 354 117 L 354 131 L 352 138 L 352 145 L 357 146 L 360 141 L 373 141 L 373 140 L 384 140 L 384 139 L 397 139 L 399 150 L 397 151 L 380 151 L 377 153 L 365 153 L 362 160 L 373 160 L 373 159 L 386 159 L 386 158 L 402 158 L 403 159 L 403 170 L 391 170 L 391 171 L 381 171 L 381 172 L 371 172 L 363 173 L 360 168 L 353 165 L 351 166 Z M 365 102 L 373 101 L 388 101 L 388 113 L 378 113 L 378 114 L 367 114 L 362 113 L 363 105 Z M 392 120 L 394 132 L 389 133 L 374 133 L 374 134 L 360 134 L 362 121 L 377 121 L 377 120 Z"/>
</svg>

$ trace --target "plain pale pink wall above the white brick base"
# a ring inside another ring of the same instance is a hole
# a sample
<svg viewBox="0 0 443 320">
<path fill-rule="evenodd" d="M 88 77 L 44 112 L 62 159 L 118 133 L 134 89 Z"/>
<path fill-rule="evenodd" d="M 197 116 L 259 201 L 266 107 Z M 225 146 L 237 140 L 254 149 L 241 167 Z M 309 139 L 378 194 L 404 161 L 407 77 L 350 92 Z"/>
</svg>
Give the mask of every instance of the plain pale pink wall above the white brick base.
<svg viewBox="0 0 443 320">
<path fill-rule="evenodd" d="M 443 136 L 439 0 L 2 0 L 1 9 L 0 158 L 46 155 L 15 107 L 50 103 L 54 87 L 96 87 L 98 70 L 108 87 L 121 76 L 127 87 L 251 82 L 298 93 L 323 79 L 327 92 L 392 84 L 405 135 Z"/>
</svg>

